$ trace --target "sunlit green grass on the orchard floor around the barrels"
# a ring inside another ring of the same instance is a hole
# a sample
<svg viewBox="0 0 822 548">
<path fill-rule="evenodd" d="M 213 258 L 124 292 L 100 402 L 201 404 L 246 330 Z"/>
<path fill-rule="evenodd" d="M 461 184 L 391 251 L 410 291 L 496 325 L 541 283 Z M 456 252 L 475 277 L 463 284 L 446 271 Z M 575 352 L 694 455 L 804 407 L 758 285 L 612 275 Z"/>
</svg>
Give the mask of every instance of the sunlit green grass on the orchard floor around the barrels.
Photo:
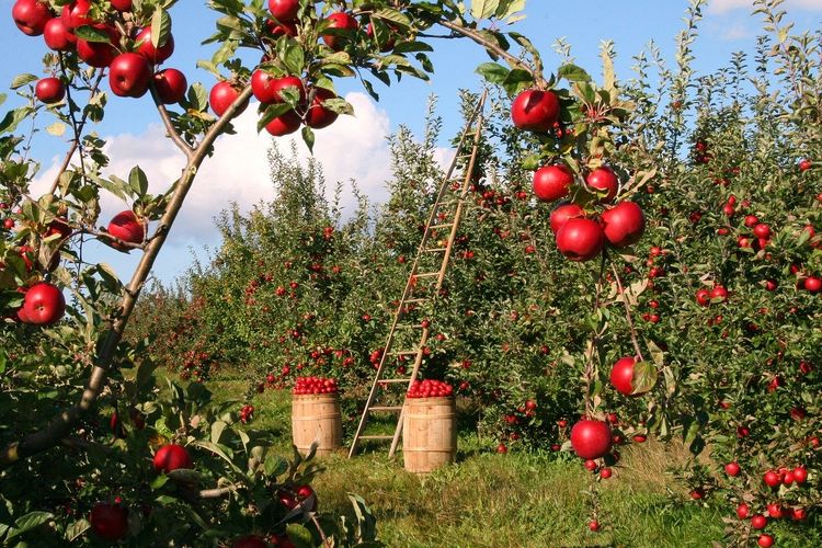
<svg viewBox="0 0 822 548">
<path fill-rule="evenodd" d="M 214 381 L 218 398 L 237 397 L 246 385 Z M 290 444 L 290 397 L 266 391 L 253 401 L 254 427 L 282 434 Z M 455 466 L 429 477 L 387 458 L 387 446 L 352 460 L 322 460 L 315 481 L 323 510 L 351 513 L 346 493 L 362 495 L 378 521 L 379 538 L 398 547 L 710 546 L 722 540 L 722 512 L 687 499 L 665 469 L 685 458 L 649 442 L 628 447 L 612 479 L 598 486 L 602 529 L 591 533 L 591 473 L 578 459 L 480 447 L 460 434 Z"/>
</svg>

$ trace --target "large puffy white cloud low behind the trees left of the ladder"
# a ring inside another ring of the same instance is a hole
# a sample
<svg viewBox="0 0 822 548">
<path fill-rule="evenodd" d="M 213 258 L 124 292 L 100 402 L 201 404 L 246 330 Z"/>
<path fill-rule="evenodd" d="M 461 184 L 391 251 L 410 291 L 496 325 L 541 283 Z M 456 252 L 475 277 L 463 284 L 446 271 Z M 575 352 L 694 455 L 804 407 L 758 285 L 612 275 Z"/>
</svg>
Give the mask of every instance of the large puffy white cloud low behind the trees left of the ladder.
<svg viewBox="0 0 822 548">
<path fill-rule="evenodd" d="M 321 162 L 329 191 L 334 182 L 354 179 L 359 190 L 374 201 L 386 197 L 385 181 L 390 175 L 390 155 L 386 136 L 390 130 L 388 114 L 364 93 L 352 92 L 345 99 L 354 106 L 356 116 L 340 116 L 328 128 L 316 132 L 315 157 Z M 250 105 L 233 123 L 236 135 L 224 135 L 215 144 L 215 153 L 207 158 L 192 186 L 185 204 L 174 222 L 170 244 L 203 244 L 214 242 L 217 230 L 214 217 L 229 203 L 237 202 L 241 210 L 261 199 L 270 201 L 274 187 L 270 180 L 267 151 L 272 137 L 256 133 L 256 107 Z M 309 152 L 298 134 L 281 137 L 277 144 L 286 153 L 290 140 L 296 140 L 300 159 Z M 106 137 L 105 151 L 112 159 L 104 174 L 127 179 L 128 171 L 139 165 L 148 176 L 149 192 L 163 191 L 184 167 L 184 160 L 173 144 L 164 137 L 161 124 L 151 124 L 141 134 L 119 134 Z M 35 182 L 34 191 L 45 192 L 57 172 L 59 159 L 54 159 Z M 354 206 L 351 193 L 343 194 L 343 206 Z M 100 224 L 126 208 L 119 199 L 106 195 L 101 203 Z"/>
</svg>

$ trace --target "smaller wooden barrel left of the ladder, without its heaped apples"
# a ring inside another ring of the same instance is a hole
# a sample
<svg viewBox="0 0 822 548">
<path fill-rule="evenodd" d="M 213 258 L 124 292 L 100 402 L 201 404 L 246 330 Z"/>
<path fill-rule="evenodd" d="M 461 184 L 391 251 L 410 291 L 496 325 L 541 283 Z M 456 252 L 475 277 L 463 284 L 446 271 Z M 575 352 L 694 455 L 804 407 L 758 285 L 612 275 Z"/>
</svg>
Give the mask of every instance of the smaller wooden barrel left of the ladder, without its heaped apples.
<svg viewBox="0 0 822 548">
<path fill-rule="evenodd" d="M 342 447 L 342 418 L 336 393 L 292 396 L 292 436 L 305 455 L 317 441 L 317 455 Z"/>
</svg>

